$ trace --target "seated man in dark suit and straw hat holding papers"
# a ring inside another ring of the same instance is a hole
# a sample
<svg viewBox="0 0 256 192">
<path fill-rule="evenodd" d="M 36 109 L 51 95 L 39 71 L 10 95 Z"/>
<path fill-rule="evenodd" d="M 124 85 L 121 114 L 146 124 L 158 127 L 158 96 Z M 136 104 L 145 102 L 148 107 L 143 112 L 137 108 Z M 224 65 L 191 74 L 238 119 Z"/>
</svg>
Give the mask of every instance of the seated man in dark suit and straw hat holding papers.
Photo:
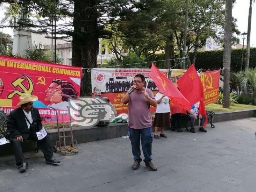
<svg viewBox="0 0 256 192">
<path fill-rule="evenodd" d="M 53 156 L 50 137 L 47 135 L 42 140 L 38 140 L 37 138 L 36 132 L 42 129 L 39 112 L 36 108 L 33 108 L 33 101 L 37 99 L 37 96 L 29 94 L 20 96 L 20 102 L 17 106 L 21 105 L 21 107 L 14 109 L 10 113 L 7 121 L 10 141 L 13 142 L 16 165 L 21 166 L 20 171 L 26 171 L 28 169 L 28 163 L 25 162 L 21 147 L 21 142 L 25 140 L 38 142 L 47 164 L 60 163 Z"/>
</svg>

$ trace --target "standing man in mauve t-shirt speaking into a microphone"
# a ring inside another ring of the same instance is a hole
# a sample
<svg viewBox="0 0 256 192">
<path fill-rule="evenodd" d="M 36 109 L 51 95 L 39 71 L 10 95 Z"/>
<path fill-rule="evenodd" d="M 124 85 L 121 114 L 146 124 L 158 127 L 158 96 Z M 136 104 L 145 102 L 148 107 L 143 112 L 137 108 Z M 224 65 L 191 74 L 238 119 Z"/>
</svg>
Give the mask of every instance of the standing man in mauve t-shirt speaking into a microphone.
<svg viewBox="0 0 256 192">
<path fill-rule="evenodd" d="M 152 163 L 152 118 L 149 113 L 150 105 L 156 107 L 156 99 L 150 89 L 144 88 L 145 77 L 142 74 L 137 74 L 133 80 L 133 86 L 128 90 L 127 94 L 122 98 L 123 104 L 129 104 L 129 122 L 128 136 L 131 141 L 131 150 L 134 156 L 132 169 L 138 169 L 140 166 L 141 150 L 144 154 L 145 165 L 152 171 L 156 171 L 157 167 Z"/>
</svg>

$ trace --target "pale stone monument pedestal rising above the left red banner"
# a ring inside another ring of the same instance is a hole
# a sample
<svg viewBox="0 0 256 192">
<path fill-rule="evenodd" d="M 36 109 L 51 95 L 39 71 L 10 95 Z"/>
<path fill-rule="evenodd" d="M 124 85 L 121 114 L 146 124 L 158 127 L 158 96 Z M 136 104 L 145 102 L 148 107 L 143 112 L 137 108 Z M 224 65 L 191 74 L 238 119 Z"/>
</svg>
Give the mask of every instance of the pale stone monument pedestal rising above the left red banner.
<svg viewBox="0 0 256 192">
<path fill-rule="evenodd" d="M 25 49 L 32 48 L 31 32 L 26 29 L 13 31 L 13 54 L 24 54 Z"/>
</svg>

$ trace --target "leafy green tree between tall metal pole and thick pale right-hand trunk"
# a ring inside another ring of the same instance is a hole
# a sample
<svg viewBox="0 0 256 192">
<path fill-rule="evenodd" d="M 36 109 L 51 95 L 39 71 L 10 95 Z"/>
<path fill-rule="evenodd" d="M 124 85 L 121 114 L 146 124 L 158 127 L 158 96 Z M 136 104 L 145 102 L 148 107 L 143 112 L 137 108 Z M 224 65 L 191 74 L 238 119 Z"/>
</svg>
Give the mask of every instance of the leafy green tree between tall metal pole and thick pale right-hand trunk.
<svg viewBox="0 0 256 192">
<path fill-rule="evenodd" d="M 206 44 L 207 38 L 220 38 L 219 35 L 223 33 L 225 0 L 191 0 L 190 3 L 188 26 L 190 35 L 187 40 L 187 51 L 194 49 L 192 63 L 195 63 L 197 50 Z"/>
</svg>

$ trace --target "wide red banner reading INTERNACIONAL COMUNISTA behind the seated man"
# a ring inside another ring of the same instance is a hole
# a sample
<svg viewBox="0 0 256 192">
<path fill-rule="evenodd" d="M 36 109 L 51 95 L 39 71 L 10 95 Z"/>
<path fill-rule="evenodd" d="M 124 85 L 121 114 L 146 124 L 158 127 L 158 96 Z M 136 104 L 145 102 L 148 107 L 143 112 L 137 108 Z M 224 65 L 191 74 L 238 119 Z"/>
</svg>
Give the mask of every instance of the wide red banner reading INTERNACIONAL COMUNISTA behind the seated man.
<svg viewBox="0 0 256 192">
<path fill-rule="evenodd" d="M 1 110 L 9 114 L 16 108 L 19 97 L 28 93 L 38 97 L 34 107 L 44 117 L 43 121 L 56 118 L 50 107 L 66 115 L 68 98 L 80 95 L 81 75 L 80 67 L 0 56 Z"/>
</svg>

